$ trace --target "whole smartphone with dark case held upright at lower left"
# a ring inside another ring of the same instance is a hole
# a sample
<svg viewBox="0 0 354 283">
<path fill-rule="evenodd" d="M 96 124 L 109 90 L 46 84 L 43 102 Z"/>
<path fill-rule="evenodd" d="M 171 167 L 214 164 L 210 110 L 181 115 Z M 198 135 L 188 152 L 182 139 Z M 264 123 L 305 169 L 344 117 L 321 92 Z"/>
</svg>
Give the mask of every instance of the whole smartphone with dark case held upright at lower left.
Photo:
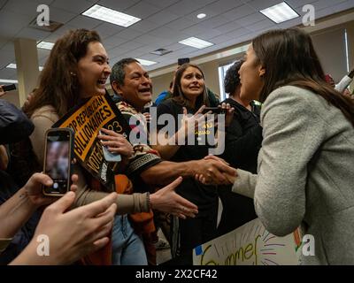
<svg viewBox="0 0 354 283">
<path fill-rule="evenodd" d="M 65 195 L 70 189 L 73 171 L 73 130 L 52 128 L 45 134 L 43 172 L 53 184 L 42 187 L 43 195 Z"/>
</svg>

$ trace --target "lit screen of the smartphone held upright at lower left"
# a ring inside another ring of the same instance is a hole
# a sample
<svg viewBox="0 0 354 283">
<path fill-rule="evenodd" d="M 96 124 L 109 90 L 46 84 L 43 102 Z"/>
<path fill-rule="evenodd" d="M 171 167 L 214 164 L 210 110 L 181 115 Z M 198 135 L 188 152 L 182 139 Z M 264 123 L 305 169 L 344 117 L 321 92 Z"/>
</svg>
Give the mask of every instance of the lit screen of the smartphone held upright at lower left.
<svg viewBox="0 0 354 283">
<path fill-rule="evenodd" d="M 54 135 L 53 135 L 54 134 Z M 47 135 L 45 173 L 53 180 L 52 187 L 45 187 L 48 194 L 65 194 L 69 186 L 70 134 L 55 132 Z"/>
</svg>

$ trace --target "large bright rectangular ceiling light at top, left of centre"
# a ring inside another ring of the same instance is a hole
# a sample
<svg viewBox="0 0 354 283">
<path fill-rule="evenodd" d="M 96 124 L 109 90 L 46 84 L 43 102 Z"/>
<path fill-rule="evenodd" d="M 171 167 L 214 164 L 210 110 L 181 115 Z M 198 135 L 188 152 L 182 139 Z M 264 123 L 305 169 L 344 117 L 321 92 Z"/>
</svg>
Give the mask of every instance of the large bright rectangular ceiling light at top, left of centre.
<svg viewBox="0 0 354 283">
<path fill-rule="evenodd" d="M 89 10 L 84 11 L 82 15 L 94 19 L 101 19 L 120 27 L 129 27 L 142 20 L 97 4 L 89 8 Z"/>
</svg>

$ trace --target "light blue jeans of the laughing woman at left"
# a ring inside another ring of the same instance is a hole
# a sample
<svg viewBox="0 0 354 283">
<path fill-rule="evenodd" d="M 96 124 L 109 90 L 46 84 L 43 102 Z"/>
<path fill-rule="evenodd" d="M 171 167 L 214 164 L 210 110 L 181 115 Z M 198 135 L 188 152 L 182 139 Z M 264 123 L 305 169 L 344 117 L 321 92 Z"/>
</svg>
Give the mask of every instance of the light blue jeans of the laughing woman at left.
<svg viewBox="0 0 354 283">
<path fill-rule="evenodd" d="M 142 239 L 134 232 L 127 215 L 117 215 L 112 229 L 112 264 L 147 265 Z"/>
</svg>

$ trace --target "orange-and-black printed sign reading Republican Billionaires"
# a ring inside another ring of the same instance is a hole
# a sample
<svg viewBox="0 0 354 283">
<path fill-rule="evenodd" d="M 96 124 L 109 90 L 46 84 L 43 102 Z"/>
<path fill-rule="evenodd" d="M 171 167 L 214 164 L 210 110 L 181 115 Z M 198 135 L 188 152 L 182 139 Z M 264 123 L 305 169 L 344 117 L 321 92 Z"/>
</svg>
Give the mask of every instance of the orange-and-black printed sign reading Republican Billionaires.
<svg viewBox="0 0 354 283">
<path fill-rule="evenodd" d="M 104 187 L 114 181 L 114 163 L 104 160 L 98 131 L 104 127 L 118 134 L 129 135 L 126 119 L 109 95 L 92 96 L 86 103 L 74 107 L 52 127 L 70 127 L 75 132 L 74 153 L 80 164 L 99 180 Z"/>
</svg>

